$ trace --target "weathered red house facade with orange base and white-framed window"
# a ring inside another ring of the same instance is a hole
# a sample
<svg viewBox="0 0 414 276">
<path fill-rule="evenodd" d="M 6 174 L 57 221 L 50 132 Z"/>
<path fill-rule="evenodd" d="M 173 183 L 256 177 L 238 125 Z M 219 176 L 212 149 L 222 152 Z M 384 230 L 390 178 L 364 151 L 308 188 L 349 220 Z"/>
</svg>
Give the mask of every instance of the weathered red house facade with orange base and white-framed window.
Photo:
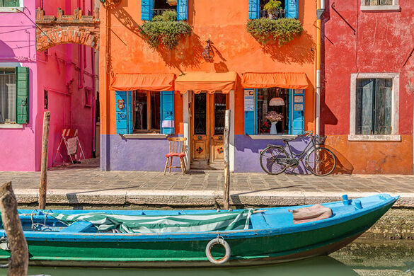
<svg viewBox="0 0 414 276">
<path fill-rule="evenodd" d="M 326 1 L 321 134 L 339 173 L 413 173 L 414 1 Z"/>
</svg>

